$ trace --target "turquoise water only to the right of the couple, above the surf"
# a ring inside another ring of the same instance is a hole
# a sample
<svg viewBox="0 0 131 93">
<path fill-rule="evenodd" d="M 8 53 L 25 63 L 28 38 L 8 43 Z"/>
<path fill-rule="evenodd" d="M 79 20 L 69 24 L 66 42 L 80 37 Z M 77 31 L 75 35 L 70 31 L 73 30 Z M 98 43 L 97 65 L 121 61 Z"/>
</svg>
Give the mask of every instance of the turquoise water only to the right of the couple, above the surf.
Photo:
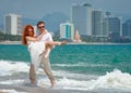
<svg viewBox="0 0 131 93">
<path fill-rule="evenodd" d="M 66 45 L 52 51 L 51 59 L 72 65 L 62 68 L 78 72 L 104 74 L 118 68 L 131 74 L 131 45 Z"/>
</svg>

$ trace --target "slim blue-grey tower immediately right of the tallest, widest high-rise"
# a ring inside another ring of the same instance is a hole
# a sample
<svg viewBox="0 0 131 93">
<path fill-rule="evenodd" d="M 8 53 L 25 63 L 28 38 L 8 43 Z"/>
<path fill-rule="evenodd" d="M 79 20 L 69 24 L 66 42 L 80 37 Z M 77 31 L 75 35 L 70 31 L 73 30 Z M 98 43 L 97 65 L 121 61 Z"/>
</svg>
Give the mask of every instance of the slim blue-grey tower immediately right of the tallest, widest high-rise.
<svg viewBox="0 0 131 93">
<path fill-rule="evenodd" d="M 92 11 L 92 35 L 103 37 L 103 12 L 102 10 Z"/>
</svg>

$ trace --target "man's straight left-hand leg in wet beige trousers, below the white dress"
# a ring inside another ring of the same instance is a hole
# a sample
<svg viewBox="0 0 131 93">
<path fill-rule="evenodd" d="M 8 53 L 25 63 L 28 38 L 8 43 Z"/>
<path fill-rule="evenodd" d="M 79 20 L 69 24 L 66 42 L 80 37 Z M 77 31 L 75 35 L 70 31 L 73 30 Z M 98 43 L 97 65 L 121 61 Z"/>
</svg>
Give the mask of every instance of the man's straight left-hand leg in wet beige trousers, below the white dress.
<svg viewBox="0 0 131 93">
<path fill-rule="evenodd" d="M 31 68 L 29 68 L 29 80 L 32 84 L 36 84 L 35 68 L 33 64 L 31 64 Z"/>
</svg>

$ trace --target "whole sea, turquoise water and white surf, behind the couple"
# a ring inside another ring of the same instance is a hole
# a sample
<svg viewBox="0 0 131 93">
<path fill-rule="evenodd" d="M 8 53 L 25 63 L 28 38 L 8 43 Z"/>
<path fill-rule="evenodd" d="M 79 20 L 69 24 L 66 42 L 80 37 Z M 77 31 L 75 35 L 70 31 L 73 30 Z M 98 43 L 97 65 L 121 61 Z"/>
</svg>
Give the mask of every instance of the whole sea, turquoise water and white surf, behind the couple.
<svg viewBox="0 0 131 93">
<path fill-rule="evenodd" d="M 0 44 L 0 84 L 28 82 L 31 57 L 21 44 Z M 56 90 L 131 92 L 131 44 L 67 44 L 50 53 Z M 37 85 L 49 88 L 43 69 Z"/>
</svg>

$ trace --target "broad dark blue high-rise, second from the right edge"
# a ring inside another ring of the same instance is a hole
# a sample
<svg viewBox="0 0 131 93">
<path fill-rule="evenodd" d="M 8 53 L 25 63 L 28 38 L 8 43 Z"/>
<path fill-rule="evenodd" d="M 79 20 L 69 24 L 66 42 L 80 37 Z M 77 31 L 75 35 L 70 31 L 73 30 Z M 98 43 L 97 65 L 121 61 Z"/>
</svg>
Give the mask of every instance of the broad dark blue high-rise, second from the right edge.
<svg viewBox="0 0 131 93">
<path fill-rule="evenodd" d="M 122 36 L 122 21 L 121 17 L 106 17 L 105 21 L 108 22 L 108 34 L 112 39 L 118 39 Z"/>
</svg>

